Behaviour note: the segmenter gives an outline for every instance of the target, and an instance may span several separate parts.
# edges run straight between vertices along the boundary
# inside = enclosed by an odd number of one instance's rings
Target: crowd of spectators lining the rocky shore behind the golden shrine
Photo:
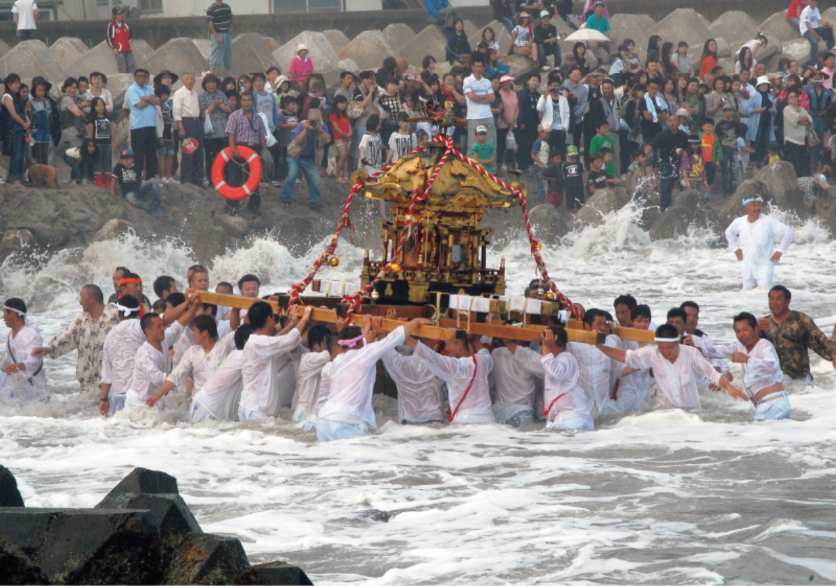
[[[120,71],[135,75],[124,103],[113,103],[99,72],[65,79],[59,92],[48,79],[23,84],[9,74],[0,110],[7,180],[24,181],[30,156],[55,166],[60,155],[74,181],[108,186],[115,176],[131,203],[158,213],[161,186],[210,186],[218,153],[247,146],[261,155],[263,186],[282,186],[281,200],[290,205],[303,175],[317,210],[321,177],[339,183],[357,169],[374,173],[441,132],[488,171],[526,174],[531,196],[568,211],[604,188],[638,199],[659,191],[663,209],[677,188],[729,197],[747,173],[783,159],[823,213],[833,177],[836,55],[818,51],[833,48],[818,0],[792,0],[787,13],[811,42],[808,62],[781,59],[767,69],[758,55],[769,39],[757,33],[727,39],[741,44],[729,71],[719,64],[715,39],[705,39],[692,62],[685,41],[652,36],[641,63],[632,39],[614,37],[603,0],[585,0],[579,16],[566,0],[532,2],[492,3],[511,32],[508,47],[489,27],[471,47],[455,8],[428,2],[446,47],[421,64],[386,56],[376,71],[344,71],[333,92],[303,44],[288,64],[233,77],[234,16],[220,0],[207,9],[210,72],[137,69],[125,9],[115,7],[108,43]],[[564,55],[555,17],[608,40],[574,43]],[[532,69],[512,77],[510,55],[530,59]],[[464,123],[437,125],[445,108]],[[115,168],[113,125],[123,116],[130,118],[130,148],[119,151]],[[225,181],[241,184],[246,167],[230,167]],[[251,198],[252,209],[259,201]]]

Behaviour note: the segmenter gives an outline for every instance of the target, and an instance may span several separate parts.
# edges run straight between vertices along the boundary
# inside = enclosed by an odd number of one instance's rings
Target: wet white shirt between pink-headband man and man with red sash
[[[403,423],[444,421],[444,381],[422,359],[391,349],[381,358],[398,387],[398,420]]]

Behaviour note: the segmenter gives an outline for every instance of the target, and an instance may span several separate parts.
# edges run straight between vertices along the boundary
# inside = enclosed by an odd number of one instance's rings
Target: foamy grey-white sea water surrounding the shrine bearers
[[[625,208],[543,251],[573,301],[611,310],[633,293],[661,323],[692,299],[721,343],[734,339],[733,314],[767,313],[766,291],[740,290],[714,234],[650,242],[637,217]],[[783,219],[796,240],[776,283],[829,334],[836,244],[815,222]],[[247,268],[268,292],[302,278],[317,254],[258,240],[199,260],[211,260],[212,285]],[[341,242],[338,254],[321,278],[355,281],[363,251]],[[508,290],[522,292],[535,276],[528,244],[493,249],[491,264],[501,257]],[[117,264],[150,281],[195,260],[174,242],[126,237],[8,259],[0,293],[26,298],[48,339],[77,313],[81,284],[110,291]],[[92,507],[135,466],[169,472],[206,532],[240,538],[253,563],[296,563],[315,583],[836,583],[836,374],[812,363],[815,382],[790,389],[791,420],[752,422],[751,405],[705,391],[699,412],[612,418],[577,435],[402,426],[381,396],[375,434],[320,445],[287,420],[190,425],[176,396],[168,410],[104,420],[97,397],[77,392],[71,354],[46,364],[48,405],[0,411],[0,463],[30,507]]]

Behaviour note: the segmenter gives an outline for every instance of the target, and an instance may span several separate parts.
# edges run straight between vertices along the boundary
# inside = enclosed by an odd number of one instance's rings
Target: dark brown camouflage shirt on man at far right
[[[778,324],[772,315],[764,316],[764,319],[769,320],[769,329],[761,330],[761,338],[766,338],[775,346],[784,375],[792,379],[810,375],[808,349],[823,359],[833,360],[833,341],[818,329],[813,318],[806,313],[791,311],[782,324]]]

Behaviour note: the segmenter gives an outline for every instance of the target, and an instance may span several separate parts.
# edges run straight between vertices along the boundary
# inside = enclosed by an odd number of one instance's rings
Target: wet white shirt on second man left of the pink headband
[[[301,340],[302,334],[299,334],[298,329],[292,329],[282,336],[250,336],[244,346],[242,410],[254,411],[266,417],[278,417],[282,400],[276,365],[283,361],[284,355],[297,348]]]

